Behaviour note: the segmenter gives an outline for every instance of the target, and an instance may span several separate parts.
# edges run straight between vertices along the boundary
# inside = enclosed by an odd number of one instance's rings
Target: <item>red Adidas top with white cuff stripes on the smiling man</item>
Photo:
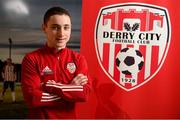
[[[80,73],[88,76],[88,83],[70,85]],[[30,118],[75,118],[76,102],[86,101],[90,89],[85,58],[68,48],[56,52],[46,45],[23,59],[22,90]]]

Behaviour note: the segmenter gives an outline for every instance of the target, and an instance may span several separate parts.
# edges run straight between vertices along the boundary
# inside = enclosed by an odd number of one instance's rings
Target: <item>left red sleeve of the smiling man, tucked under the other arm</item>
[[[42,91],[37,63],[26,56],[22,62],[22,91],[26,103],[30,107],[56,106],[61,98]]]

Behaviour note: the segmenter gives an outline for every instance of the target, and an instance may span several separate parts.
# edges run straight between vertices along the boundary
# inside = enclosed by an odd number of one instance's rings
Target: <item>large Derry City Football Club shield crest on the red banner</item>
[[[150,81],[161,69],[171,42],[166,8],[123,3],[100,9],[95,26],[99,64],[126,91]]]

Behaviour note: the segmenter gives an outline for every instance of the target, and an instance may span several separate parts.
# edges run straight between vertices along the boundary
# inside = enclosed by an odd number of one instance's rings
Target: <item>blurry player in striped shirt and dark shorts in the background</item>
[[[6,60],[6,65],[4,66],[3,72],[2,72],[2,78],[4,79],[4,83],[3,83],[3,91],[1,93],[1,101],[3,101],[3,97],[9,86],[11,88],[12,102],[15,102],[16,97],[15,97],[14,88],[15,88],[15,81],[16,81],[16,71],[15,71],[15,67],[12,63],[11,58],[8,58]]]

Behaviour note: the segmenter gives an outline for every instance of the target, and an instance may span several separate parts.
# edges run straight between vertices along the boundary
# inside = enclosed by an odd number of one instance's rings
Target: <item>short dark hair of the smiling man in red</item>
[[[49,18],[53,15],[67,15],[71,18],[71,15],[68,10],[62,8],[62,7],[51,7],[49,8],[46,13],[44,14],[43,23],[46,25]]]

